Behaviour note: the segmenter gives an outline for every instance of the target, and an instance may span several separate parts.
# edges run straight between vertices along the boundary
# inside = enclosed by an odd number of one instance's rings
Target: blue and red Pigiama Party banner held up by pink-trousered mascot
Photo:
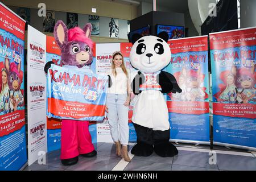
[[[102,121],[107,89],[107,76],[52,64],[47,75],[47,116],[58,119]]]

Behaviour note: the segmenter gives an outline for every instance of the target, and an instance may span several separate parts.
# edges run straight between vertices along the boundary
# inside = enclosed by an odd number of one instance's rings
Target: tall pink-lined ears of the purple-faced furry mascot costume
[[[68,42],[68,31],[70,30],[68,30],[67,26],[62,20],[58,20],[56,22],[53,34],[59,47]],[[85,37],[90,38],[90,33],[92,32],[92,24],[86,23],[82,30],[85,32]]]

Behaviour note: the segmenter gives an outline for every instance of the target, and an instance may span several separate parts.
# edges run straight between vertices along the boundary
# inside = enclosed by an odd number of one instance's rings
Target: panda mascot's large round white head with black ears
[[[134,34],[131,37],[133,43],[130,52],[131,65],[142,72],[162,70],[171,61],[168,38],[167,32],[160,32],[157,36]]]

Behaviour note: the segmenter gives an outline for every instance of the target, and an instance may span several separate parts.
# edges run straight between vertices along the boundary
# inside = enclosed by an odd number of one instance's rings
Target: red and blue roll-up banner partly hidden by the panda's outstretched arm
[[[171,140],[209,144],[208,38],[170,40],[172,57],[166,71],[181,93],[167,94]]]

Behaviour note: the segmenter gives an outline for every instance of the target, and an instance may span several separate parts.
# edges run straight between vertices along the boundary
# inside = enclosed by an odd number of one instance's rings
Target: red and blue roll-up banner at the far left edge
[[[0,2],[0,171],[19,170],[27,163],[25,23]]]

